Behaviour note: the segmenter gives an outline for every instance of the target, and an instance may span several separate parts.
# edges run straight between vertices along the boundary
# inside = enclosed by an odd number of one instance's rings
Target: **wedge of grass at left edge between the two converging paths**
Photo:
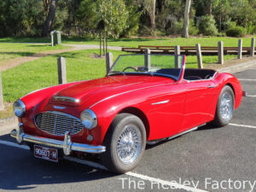
[[[0,43],[0,62],[9,61],[19,56],[33,55],[45,50],[67,49],[65,46],[57,45],[51,47],[47,44],[8,44]]]

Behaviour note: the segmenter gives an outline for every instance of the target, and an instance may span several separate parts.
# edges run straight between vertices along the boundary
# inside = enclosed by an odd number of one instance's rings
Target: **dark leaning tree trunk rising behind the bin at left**
[[[42,32],[43,37],[49,37],[49,29],[50,26],[52,25],[53,20],[55,20],[55,10],[56,6],[59,0],[50,0],[49,3],[49,12],[47,14],[47,18],[44,22],[44,28]]]

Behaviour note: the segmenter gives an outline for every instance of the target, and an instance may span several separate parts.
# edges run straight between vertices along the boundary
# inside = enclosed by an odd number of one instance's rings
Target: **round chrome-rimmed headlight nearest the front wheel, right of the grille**
[[[80,119],[87,130],[95,128],[98,123],[96,114],[90,109],[85,109],[81,113]]]

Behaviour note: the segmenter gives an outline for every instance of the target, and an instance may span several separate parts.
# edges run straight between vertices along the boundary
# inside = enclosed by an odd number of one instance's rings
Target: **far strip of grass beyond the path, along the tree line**
[[[236,47],[239,38],[119,38],[108,39],[109,46],[137,47],[138,45],[181,45],[181,46],[217,46],[218,41],[223,41],[224,46]],[[242,38],[243,46],[249,47],[251,38]],[[50,43],[50,38],[0,38],[0,43]],[[92,38],[62,37],[62,44],[100,44],[99,40]]]

